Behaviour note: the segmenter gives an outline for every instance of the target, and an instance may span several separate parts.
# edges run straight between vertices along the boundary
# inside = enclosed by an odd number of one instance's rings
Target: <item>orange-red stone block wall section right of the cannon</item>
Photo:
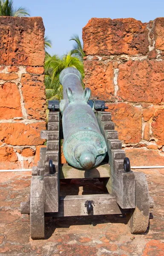
[[[106,100],[131,165],[164,165],[164,18],[92,18],[83,43],[85,86]]]

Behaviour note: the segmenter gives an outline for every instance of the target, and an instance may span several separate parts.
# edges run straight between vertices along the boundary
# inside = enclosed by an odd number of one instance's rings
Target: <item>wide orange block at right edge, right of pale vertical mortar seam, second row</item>
[[[117,95],[129,102],[164,102],[164,61],[120,64]]]

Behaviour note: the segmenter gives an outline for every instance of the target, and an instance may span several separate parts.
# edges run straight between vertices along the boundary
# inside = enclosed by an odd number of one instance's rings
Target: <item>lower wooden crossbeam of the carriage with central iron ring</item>
[[[115,195],[67,195],[60,197],[59,212],[55,216],[88,215],[86,202],[92,202],[92,215],[121,214],[124,211],[118,207]]]

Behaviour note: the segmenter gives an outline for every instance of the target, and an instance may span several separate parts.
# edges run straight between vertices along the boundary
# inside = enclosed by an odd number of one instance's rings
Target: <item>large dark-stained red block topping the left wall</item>
[[[44,65],[44,26],[41,17],[4,16],[0,17],[0,24],[0,64]]]

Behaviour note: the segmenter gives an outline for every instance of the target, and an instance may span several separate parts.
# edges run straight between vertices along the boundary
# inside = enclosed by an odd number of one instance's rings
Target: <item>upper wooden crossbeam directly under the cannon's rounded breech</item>
[[[110,177],[110,166],[108,163],[102,163],[90,170],[74,168],[66,163],[59,166],[59,171],[60,179]]]

